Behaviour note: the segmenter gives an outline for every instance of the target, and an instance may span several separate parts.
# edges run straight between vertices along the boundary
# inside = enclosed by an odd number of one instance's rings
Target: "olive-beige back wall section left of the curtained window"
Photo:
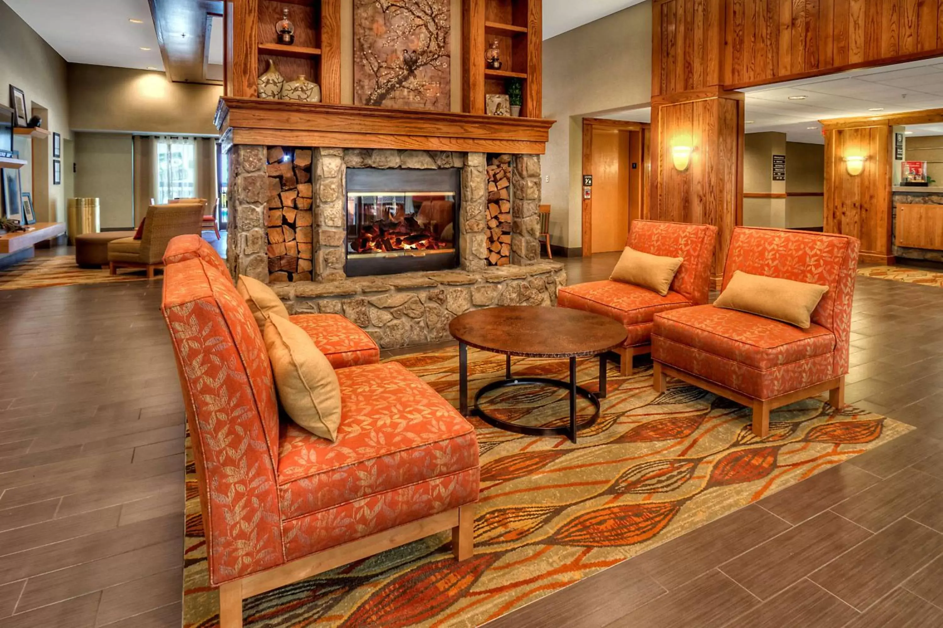
[[[100,199],[102,229],[133,229],[132,140],[126,133],[75,133],[75,195]]]

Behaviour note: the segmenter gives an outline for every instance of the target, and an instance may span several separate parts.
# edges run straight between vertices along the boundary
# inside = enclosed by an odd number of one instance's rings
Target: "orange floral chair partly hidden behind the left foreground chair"
[[[177,236],[171,240],[164,253],[164,265],[194,257],[203,259],[223,276],[231,276],[216,249],[196,235]],[[295,314],[289,320],[307,332],[335,369],[380,361],[380,348],[370,334],[339,314]]]

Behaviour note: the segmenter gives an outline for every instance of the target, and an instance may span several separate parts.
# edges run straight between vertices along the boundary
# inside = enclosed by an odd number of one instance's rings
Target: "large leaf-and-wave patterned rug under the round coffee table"
[[[457,350],[397,359],[457,404]],[[470,390],[504,369],[503,356],[470,350]],[[566,360],[514,361],[519,376],[566,379],[567,369]],[[580,383],[597,389],[597,374],[598,362],[584,361]],[[477,421],[471,559],[455,562],[450,535],[427,537],[246,600],[245,625],[480,625],[913,429],[809,400],[774,411],[760,439],[742,407],[677,381],[659,396],[651,383],[650,367],[619,377],[610,365],[600,419],[575,445]],[[558,425],[569,421],[564,395],[505,388],[488,403],[505,419]],[[184,625],[217,626],[191,462],[185,558]]]

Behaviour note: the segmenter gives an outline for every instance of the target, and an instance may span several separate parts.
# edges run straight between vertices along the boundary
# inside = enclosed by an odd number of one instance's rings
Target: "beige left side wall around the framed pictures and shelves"
[[[0,1],[0,102],[8,103],[9,85],[24,91],[28,107],[45,108],[42,126],[71,138],[67,97],[66,62],[52,46]],[[31,140],[17,140],[21,157]],[[21,172],[24,190],[33,195],[39,221],[65,220],[65,186],[52,179],[52,140],[37,140],[29,150],[31,160]],[[63,162],[63,179],[66,166]],[[70,168],[71,170],[71,168]],[[27,172],[28,171],[28,172]],[[64,182],[64,181],[63,181]]]

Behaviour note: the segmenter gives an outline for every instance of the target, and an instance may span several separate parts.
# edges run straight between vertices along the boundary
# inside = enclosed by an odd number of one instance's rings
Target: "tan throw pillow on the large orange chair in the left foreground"
[[[278,399],[291,421],[315,436],[336,440],[340,385],[331,363],[305,330],[287,319],[270,318],[263,337],[272,361]]]

